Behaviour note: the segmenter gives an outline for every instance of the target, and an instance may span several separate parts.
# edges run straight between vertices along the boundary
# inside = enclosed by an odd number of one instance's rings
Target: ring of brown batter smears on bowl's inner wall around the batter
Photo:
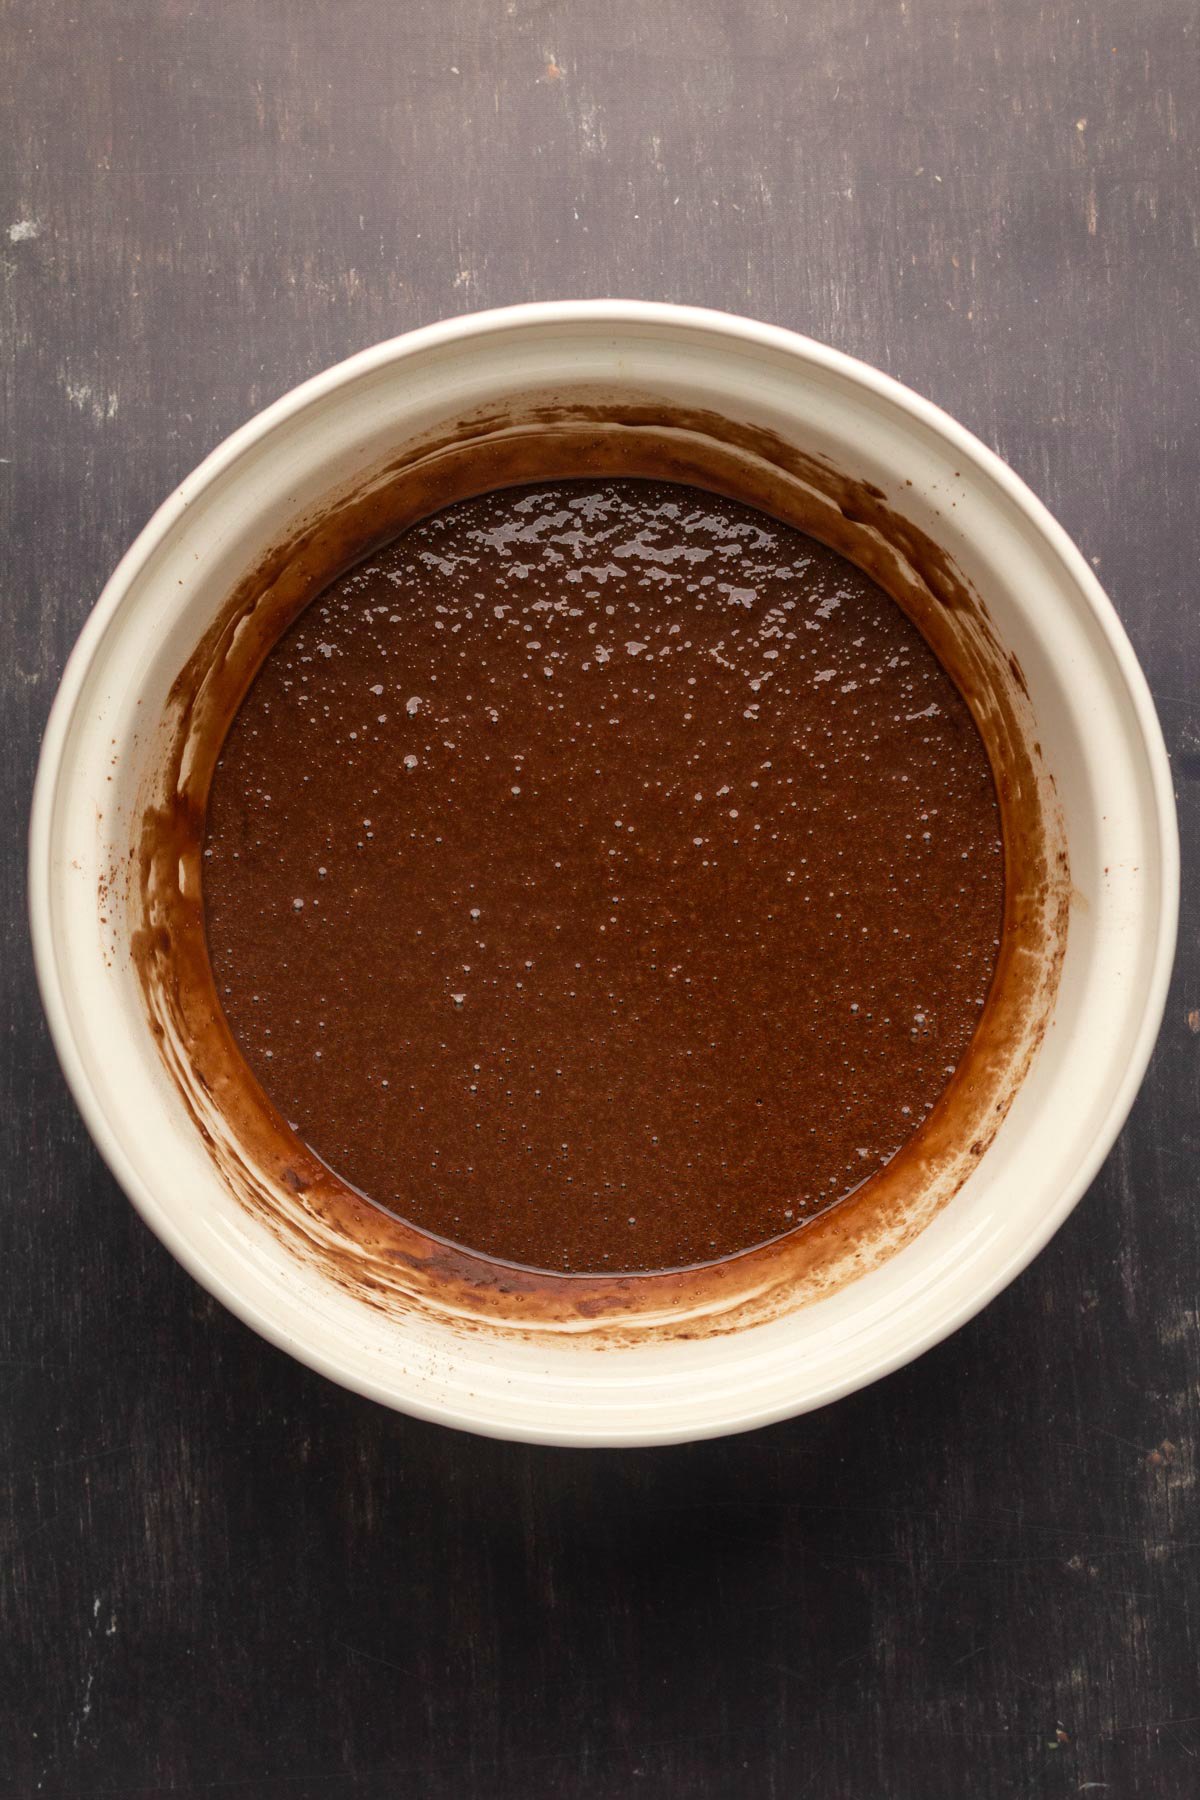
[[[981,1026],[954,1080],[873,1181],[788,1237],[702,1269],[554,1276],[473,1256],[390,1219],[286,1127],[216,997],[200,851],[228,722],[270,646],[317,592],[455,499],[604,475],[682,481],[757,506],[849,556],[900,601],[955,679],[988,747],[1004,826],[1004,931]],[[1031,752],[1027,702],[982,601],[878,490],[712,414],[664,414],[655,403],[599,394],[587,405],[545,396],[520,414],[455,421],[410,446],[369,484],[331,495],[320,517],[297,518],[279,551],[246,576],[180,671],[167,727],[130,895],[135,961],[164,1060],[230,1192],[327,1278],[396,1318],[419,1309],[466,1330],[552,1330],[613,1345],[738,1330],[831,1292],[909,1242],[957,1192],[1052,1012],[1070,889],[1061,821]]]

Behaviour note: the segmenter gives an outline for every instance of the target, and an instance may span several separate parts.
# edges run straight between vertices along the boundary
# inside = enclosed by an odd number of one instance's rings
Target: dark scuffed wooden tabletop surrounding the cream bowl
[[[1200,1793],[1200,61],[1191,0],[7,0],[0,1793]],[[554,1453],[205,1298],[76,1118],[23,824],[151,508],[302,376],[556,295],[797,326],[1099,569],[1186,833],[1159,1051],[1033,1269],[756,1436]]]

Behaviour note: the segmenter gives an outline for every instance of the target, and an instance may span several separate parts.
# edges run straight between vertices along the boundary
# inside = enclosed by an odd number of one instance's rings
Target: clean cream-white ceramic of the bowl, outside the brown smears
[[[720,412],[905,490],[907,517],[986,594],[1020,659],[1072,880],[1052,1028],[986,1156],[912,1242],[766,1323],[599,1350],[563,1334],[389,1318],[291,1255],[221,1181],[101,918],[162,749],[153,725],[171,682],[288,522],[439,421],[597,385]],[[1177,895],[1171,778],[1146,682],[1085,560],[1011,470],[928,401],[820,344],[615,301],[408,333],[306,382],[221,445],[142,531],[79,637],[31,828],[54,1042],[95,1143],[162,1242],[239,1318],[331,1379],[425,1418],[558,1444],[698,1438],[822,1406],[991,1300],[1063,1222],[1124,1121],[1162,1015]]]

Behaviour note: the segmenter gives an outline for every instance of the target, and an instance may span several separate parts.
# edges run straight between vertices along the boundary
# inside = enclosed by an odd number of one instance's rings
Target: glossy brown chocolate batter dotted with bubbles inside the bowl
[[[232,1031],[376,1204],[651,1271],[786,1233],[928,1114],[984,1006],[984,745],[811,538],[646,481],[461,502],[335,581],[225,742]]]

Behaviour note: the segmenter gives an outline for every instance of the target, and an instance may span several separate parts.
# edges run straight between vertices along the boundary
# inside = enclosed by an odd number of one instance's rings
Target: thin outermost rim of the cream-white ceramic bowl
[[[155,1192],[142,1181],[128,1157],[122,1141],[110,1129],[99,1094],[88,1075],[85,1058],[76,1042],[65,999],[65,986],[58,963],[58,950],[50,923],[50,893],[54,887],[52,871],[52,823],[56,815],[59,785],[63,779],[63,756],[76,707],[101,648],[106,630],[117,616],[126,594],[151,562],[158,547],[169,538],[178,522],[189,511],[203,490],[212,486],[221,475],[245,459],[266,437],[286,427],[297,414],[313,407],[327,394],[369,376],[389,364],[399,364],[410,356],[435,351],[455,342],[504,335],[506,331],[543,326],[613,326],[671,328],[676,331],[711,333],[734,344],[745,344],[761,351],[797,356],[815,369],[865,389],[874,398],[907,414],[916,425],[923,425],[952,445],[966,457],[979,473],[991,481],[1007,500],[1018,509],[1034,533],[1049,544],[1065,572],[1074,580],[1081,601],[1099,626],[1106,650],[1112,655],[1121,684],[1133,709],[1137,733],[1146,754],[1146,769],[1153,788],[1153,824],[1159,841],[1159,907],[1153,918],[1155,950],[1151,976],[1144,988],[1142,1010],[1137,1031],[1128,1044],[1124,1073],[1114,1091],[1108,1112],[1094,1134],[1087,1154],[1081,1157],[1074,1179],[1067,1183],[1047,1204],[1036,1228],[1013,1249],[1013,1253],[991,1271],[991,1276],[970,1292],[964,1300],[946,1307],[932,1321],[916,1325],[901,1336],[896,1345],[873,1359],[869,1372],[853,1372],[831,1379],[824,1388],[808,1395],[801,1404],[765,1404],[757,1409],[743,1408],[736,1417],[716,1417],[702,1426],[691,1424],[684,1429],[671,1426],[640,1427],[604,1427],[587,1424],[581,1429],[563,1427],[560,1422],[545,1429],[525,1422],[507,1422],[455,1404],[421,1400],[410,1395],[398,1395],[387,1381],[371,1379],[362,1370],[347,1368],[336,1350],[324,1350],[318,1345],[299,1341],[281,1319],[261,1307],[254,1298],[243,1294],[227,1282],[219,1271],[210,1267],[203,1251],[198,1249],[184,1229],[169,1217]],[[774,1424],[781,1418],[811,1411],[831,1400],[856,1391],[873,1381],[914,1361],[925,1350],[948,1337],[961,1325],[981,1312],[1009,1282],[1016,1278],[1045,1247],[1067,1215],[1079,1202],[1087,1188],[1096,1179],[1101,1163],[1108,1156],[1115,1138],[1124,1125],[1133,1105],[1142,1076],[1159,1035],[1166,1008],[1168,985],[1175,959],[1175,940],[1178,929],[1178,824],[1175,812],[1175,794],[1171,767],[1162,738],[1162,727],[1150,695],[1150,686],[1133,653],[1124,626],[1099,585],[1087,560],[1069,538],[1065,529],[1051,515],[1042,500],[1025,482],[973,432],[959,425],[948,412],[934,401],[925,400],[901,382],[871,364],[865,364],[844,351],[833,349],[815,338],[790,331],[783,326],[763,324],[736,313],[712,308],[667,304],[658,301],[624,299],[588,299],[588,301],[538,301],[516,306],[495,308],[489,311],[464,313],[443,319],[435,324],[419,326],[398,337],[385,338],[362,349],[342,362],[309,376],[297,387],[284,392],[245,425],[225,437],[203,461],[184,477],[175,491],[157,508],[148,524],[124,553],[112,576],[104,583],[83,630],[67,659],[59,679],[58,693],[45,724],[38,772],[32,790],[32,810],[29,824],[29,922],[34,952],[38,988],[45,1008],[47,1022],[58,1060],[67,1085],[72,1093],[83,1121],[97,1145],[104,1163],[117,1179],[122,1192],[137,1208],[140,1217],[171,1251],[171,1255],[200,1282],[216,1300],[236,1318],[248,1325],[261,1337],[286,1350],[297,1361],[367,1399],[380,1400],[412,1417],[470,1429],[486,1436],[516,1438],[538,1444],[574,1444],[574,1445],[631,1445],[631,1444],[671,1444],[696,1440],[703,1436],[752,1431],[759,1426]]]

